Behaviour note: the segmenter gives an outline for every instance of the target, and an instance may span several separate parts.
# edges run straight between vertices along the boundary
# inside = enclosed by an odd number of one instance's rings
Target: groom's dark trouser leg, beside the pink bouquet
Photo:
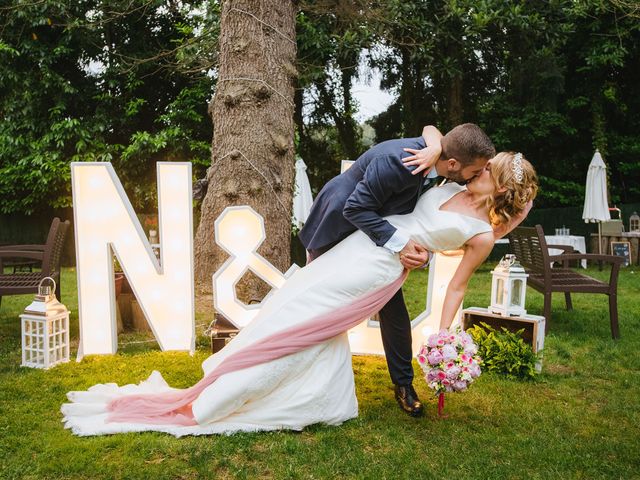
[[[380,330],[391,381],[409,385],[413,382],[411,320],[402,289],[380,310]]]

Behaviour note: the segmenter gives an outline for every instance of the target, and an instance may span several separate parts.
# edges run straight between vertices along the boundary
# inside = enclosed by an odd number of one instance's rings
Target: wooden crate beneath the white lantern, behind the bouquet
[[[531,345],[533,353],[541,352],[544,349],[544,327],[545,318],[539,315],[524,315],[522,317],[503,317],[495,313],[489,312],[488,309],[482,307],[469,307],[462,311],[462,329],[466,330],[479,323],[486,323],[490,327],[500,330],[501,327],[511,332],[522,332],[523,340]],[[536,364],[536,370],[542,370],[542,357],[540,362]]]

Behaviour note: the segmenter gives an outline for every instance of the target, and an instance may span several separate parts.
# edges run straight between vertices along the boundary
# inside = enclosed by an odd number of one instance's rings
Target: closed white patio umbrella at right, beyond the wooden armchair
[[[587,172],[582,218],[587,223],[598,222],[598,253],[602,253],[601,222],[611,220],[611,215],[607,196],[607,166],[598,150],[594,153]]]

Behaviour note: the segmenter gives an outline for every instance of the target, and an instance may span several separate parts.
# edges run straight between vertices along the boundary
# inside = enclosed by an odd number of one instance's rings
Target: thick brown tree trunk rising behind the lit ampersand
[[[211,277],[228,258],[215,243],[214,222],[231,205],[249,205],[264,218],[259,253],[281,271],[290,264],[294,184],[296,34],[291,0],[225,0],[219,72],[210,104],[212,167],[195,240],[195,279],[211,292]],[[268,288],[247,274],[245,302]]]

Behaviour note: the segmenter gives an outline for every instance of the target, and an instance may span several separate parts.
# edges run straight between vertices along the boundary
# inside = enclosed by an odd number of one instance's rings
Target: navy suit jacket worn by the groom
[[[363,153],[346,172],[329,181],[316,197],[300,231],[307,250],[336,244],[357,229],[383,246],[396,228],[382,217],[413,211],[424,182],[411,175],[403,148],[422,149],[422,137],[379,143]]]

